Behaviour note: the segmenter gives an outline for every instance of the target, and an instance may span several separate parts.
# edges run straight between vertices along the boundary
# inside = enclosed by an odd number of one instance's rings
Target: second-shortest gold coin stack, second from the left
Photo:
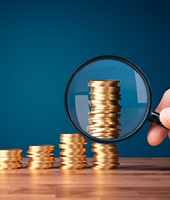
[[[30,146],[27,155],[30,158],[28,163],[29,169],[50,169],[53,166],[54,153],[53,145],[40,145],[40,146]]]

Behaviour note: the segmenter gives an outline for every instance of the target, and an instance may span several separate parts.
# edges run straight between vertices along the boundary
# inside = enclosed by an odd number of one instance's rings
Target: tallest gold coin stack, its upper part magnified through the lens
[[[103,139],[119,136],[121,106],[118,103],[120,100],[118,83],[118,80],[93,80],[88,83],[92,99],[89,101],[92,107],[88,119],[90,126],[87,127],[90,135]],[[95,153],[93,169],[113,169],[119,165],[119,153],[115,144],[92,143],[92,147]]]

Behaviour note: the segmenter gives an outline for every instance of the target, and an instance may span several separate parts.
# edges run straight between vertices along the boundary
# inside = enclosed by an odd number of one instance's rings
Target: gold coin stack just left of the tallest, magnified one
[[[84,137],[75,134],[61,134],[59,144],[61,148],[60,157],[61,166],[60,169],[82,169],[87,165],[84,153],[86,148],[84,148],[85,142]]]

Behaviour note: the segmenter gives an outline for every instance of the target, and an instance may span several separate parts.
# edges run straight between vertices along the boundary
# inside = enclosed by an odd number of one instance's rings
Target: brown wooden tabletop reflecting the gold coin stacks
[[[120,158],[113,170],[0,170],[0,200],[170,199],[170,158]]]

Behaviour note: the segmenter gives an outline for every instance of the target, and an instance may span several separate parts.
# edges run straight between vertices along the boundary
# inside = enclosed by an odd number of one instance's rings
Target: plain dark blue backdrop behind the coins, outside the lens
[[[0,1],[0,148],[54,144],[74,133],[63,107],[65,83],[99,55],[131,60],[148,77],[156,108],[170,85],[170,3],[136,0]],[[169,139],[147,143],[149,123],[119,143],[120,157],[169,157]],[[91,157],[91,146],[87,145]]]

